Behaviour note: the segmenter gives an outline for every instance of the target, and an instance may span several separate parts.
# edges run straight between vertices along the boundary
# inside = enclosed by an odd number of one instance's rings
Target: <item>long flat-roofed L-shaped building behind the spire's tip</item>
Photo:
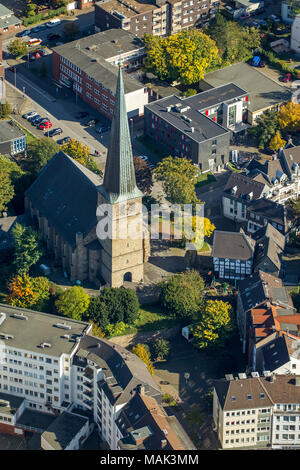
[[[132,33],[112,29],[55,47],[52,76],[111,120],[116,99],[117,65],[122,64],[128,71],[134,70],[140,66],[144,53],[142,41]],[[144,114],[144,105],[148,103],[147,88],[127,73],[123,80],[128,117],[137,119]]]

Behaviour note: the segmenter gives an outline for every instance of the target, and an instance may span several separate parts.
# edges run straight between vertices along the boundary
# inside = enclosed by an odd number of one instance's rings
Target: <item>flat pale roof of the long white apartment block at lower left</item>
[[[61,354],[71,354],[78,344],[76,338],[86,333],[88,323],[67,317],[34,312],[19,307],[0,303],[0,315],[6,315],[0,324],[0,340],[7,347],[25,349],[37,354],[59,357]],[[23,319],[20,317],[23,314]],[[15,316],[17,315],[17,316]],[[58,324],[65,323],[70,329],[61,328]],[[3,335],[10,335],[5,339]],[[68,335],[69,338],[64,337]],[[41,345],[46,343],[46,346]],[[48,347],[47,344],[51,346]]]

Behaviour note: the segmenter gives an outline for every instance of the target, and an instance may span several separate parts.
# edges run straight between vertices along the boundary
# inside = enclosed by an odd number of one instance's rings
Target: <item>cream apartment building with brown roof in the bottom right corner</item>
[[[228,374],[214,386],[213,419],[223,449],[300,447],[300,376]]]

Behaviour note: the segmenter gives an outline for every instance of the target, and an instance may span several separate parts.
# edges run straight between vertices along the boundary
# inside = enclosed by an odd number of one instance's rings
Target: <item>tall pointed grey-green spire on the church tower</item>
[[[142,197],[143,195],[136,186],[124,83],[120,66],[102,189],[106,200],[111,204]]]

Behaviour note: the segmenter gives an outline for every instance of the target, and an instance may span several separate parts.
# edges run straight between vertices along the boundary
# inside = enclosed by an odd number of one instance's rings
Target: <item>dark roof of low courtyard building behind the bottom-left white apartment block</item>
[[[42,439],[49,442],[56,450],[63,450],[86,425],[87,421],[86,417],[64,411],[43,432]]]

